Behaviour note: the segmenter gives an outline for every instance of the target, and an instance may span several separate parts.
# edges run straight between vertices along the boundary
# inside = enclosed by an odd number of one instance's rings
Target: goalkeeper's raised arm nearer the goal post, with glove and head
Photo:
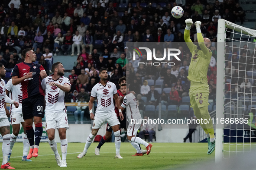
[[[208,49],[208,47],[211,46],[211,41],[208,38],[203,38],[203,35],[201,33],[201,22],[197,21],[194,23],[196,29],[197,29],[197,36],[198,36],[198,44],[203,51],[203,53],[206,55],[207,53],[211,53],[211,50]],[[206,43],[208,42],[208,43]]]

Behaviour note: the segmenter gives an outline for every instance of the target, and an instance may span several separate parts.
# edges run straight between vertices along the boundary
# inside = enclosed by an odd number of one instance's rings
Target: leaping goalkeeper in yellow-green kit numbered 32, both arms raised
[[[207,154],[211,154],[215,149],[213,123],[208,112],[209,85],[207,83],[207,71],[212,56],[212,52],[209,49],[211,40],[209,40],[209,38],[203,38],[200,29],[201,22],[197,21],[194,25],[197,30],[199,45],[194,45],[189,34],[193,21],[192,19],[186,19],[185,22],[187,26],[184,32],[184,40],[192,54],[191,63],[188,69],[188,79],[191,82],[189,89],[190,107],[193,108],[194,115],[200,120],[200,125],[207,135]],[[203,121],[201,122],[201,120]]]

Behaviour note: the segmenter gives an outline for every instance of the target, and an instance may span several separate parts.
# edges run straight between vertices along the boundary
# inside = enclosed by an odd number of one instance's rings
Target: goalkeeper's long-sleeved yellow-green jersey
[[[197,33],[197,36],[198,44],[201,50],[198,50],[197,46],[193,44],[190,39],[189,31],[185,29],[184,40],[192,54],[188,69],[188,79],[191,82],[201,82],[203,84],[207,84],[207,71],[211,62],[212,52],[205,46],[202,34]]]

